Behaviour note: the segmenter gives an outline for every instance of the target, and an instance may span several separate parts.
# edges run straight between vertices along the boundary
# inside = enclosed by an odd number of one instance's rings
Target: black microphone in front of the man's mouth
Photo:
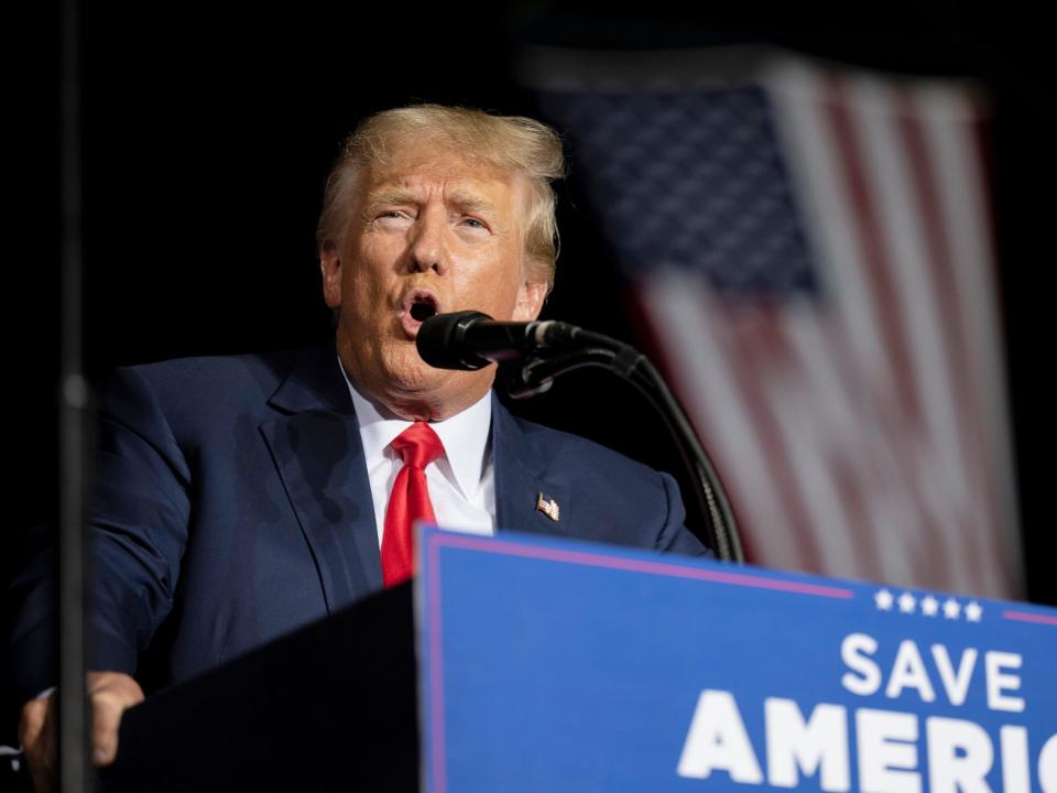
[[[495,322],[488,314],[465,311],[437,314],[418,327],[418,355],[438,369],[472,371],[493,361],[520,358],[573,340],[580,328],[559,322]]]

